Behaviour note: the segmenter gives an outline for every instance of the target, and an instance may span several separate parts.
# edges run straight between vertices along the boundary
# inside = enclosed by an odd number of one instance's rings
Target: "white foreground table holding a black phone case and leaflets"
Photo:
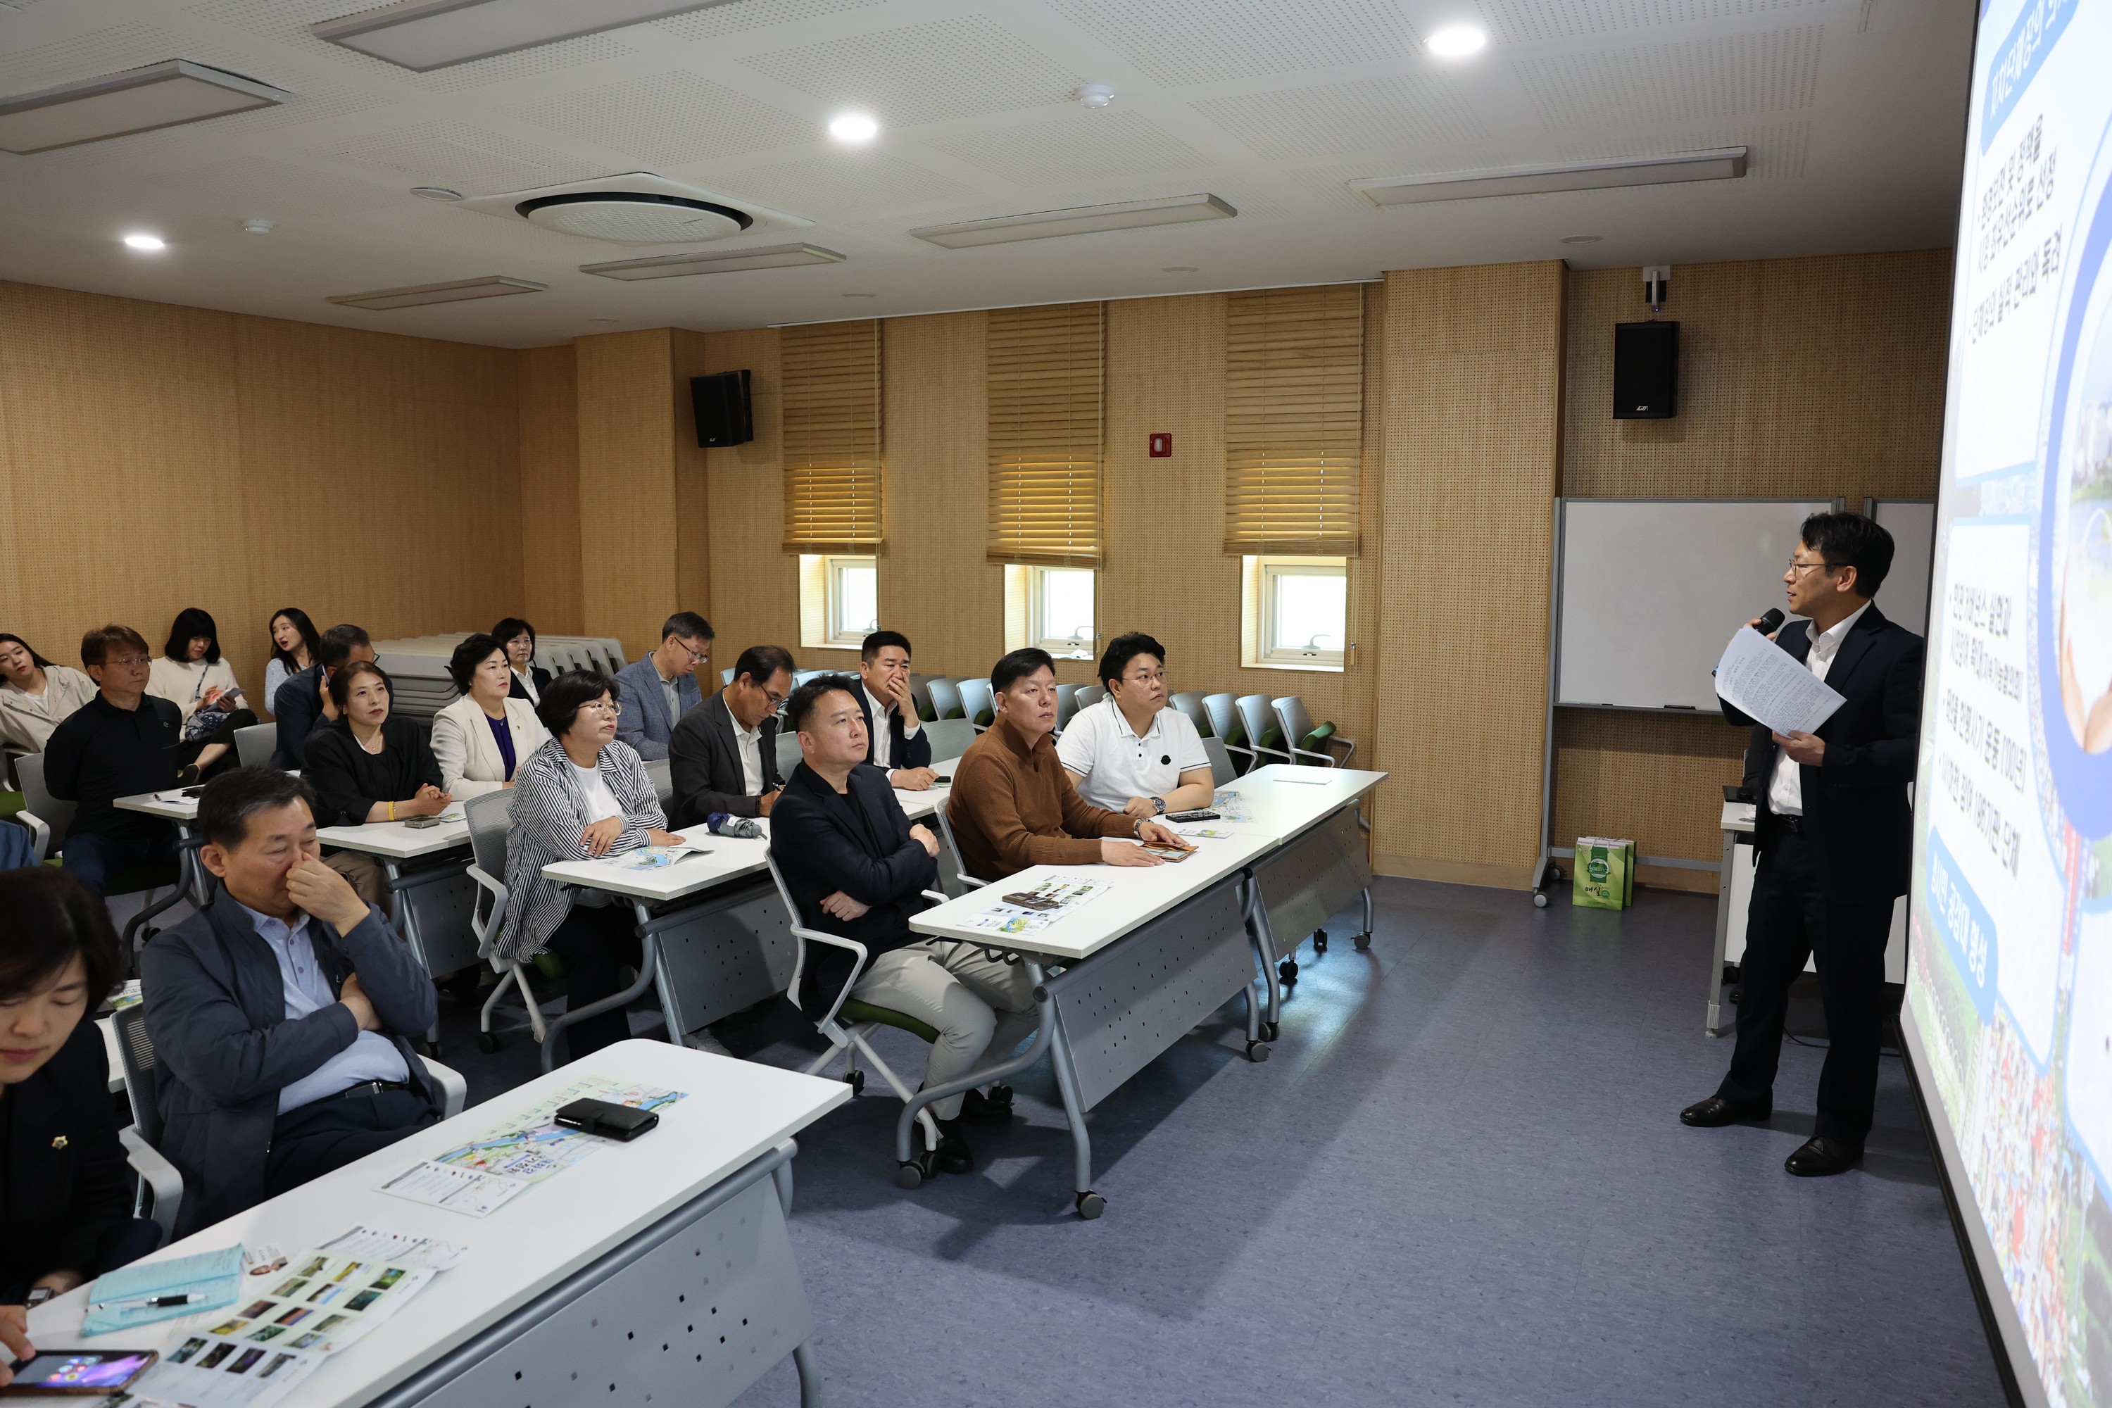
[[[488,1218],[380,1191],[420,1159],[484,1134],[583,1074],[663,1085],[686,1100],[659,1127],[530,1186]],[[150,1260],[232,1243],[287,1254],[355,1224],[439,1237],[469,1254],[401,1313],[332,1355],[300,1408],[490,1408],[659,1400],[731,1404],[786,1355],[800,1404],[819,1402],[813,1311],[792,1260],[792,1136],[851,1098],[822,1081],[657,1041],[604,1047],[498,1100],[418,1129]],[[30,1311],[40,1349],[80,1338],[89,1288]],[[226,1309],[127,1330],[118,1349],[169,1349]]]

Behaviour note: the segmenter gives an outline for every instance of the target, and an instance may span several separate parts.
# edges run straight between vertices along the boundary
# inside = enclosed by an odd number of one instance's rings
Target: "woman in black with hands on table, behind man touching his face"
[[[454,800],[439,789],[431,732],[412,718],[389,713],[389,676],[374,661],[351,661],[329,678],[338,718],[308,735],[302,777],[315,787],[317,825],[365,825],[437,817]],[[389,906],[382,868],[372,855],[336,851],[323,863],[342,874],[367,903]]]

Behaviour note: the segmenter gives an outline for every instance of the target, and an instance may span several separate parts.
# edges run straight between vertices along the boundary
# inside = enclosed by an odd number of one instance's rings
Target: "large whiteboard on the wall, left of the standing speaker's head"
[[[1827,498],[1559,498],[1554,703],[1717,711],[1723,642],[1783,606]]]

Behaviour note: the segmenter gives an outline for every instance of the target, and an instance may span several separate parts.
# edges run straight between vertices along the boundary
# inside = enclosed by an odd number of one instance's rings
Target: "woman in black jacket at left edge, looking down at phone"
[[[0,1345],[27,1359],[27,1305],[146,1256],[161,1229],[131,1216],[91,1020],[118,975],[110,912],[40,865],[0,872]]]

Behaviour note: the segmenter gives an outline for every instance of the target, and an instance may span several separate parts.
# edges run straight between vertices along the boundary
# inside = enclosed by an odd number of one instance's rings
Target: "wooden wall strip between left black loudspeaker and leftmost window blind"
[[[708,450],[708,553],[712,680],[748,646],[798,650],[798,557],[781,551],[784,454],[779,450],[777,334],[769,327],[705,338],[703,372],[750,372],[756,437]],[[695,443],[695,437],[691,439]],[[800,661],[800,669],[807,669]]]

